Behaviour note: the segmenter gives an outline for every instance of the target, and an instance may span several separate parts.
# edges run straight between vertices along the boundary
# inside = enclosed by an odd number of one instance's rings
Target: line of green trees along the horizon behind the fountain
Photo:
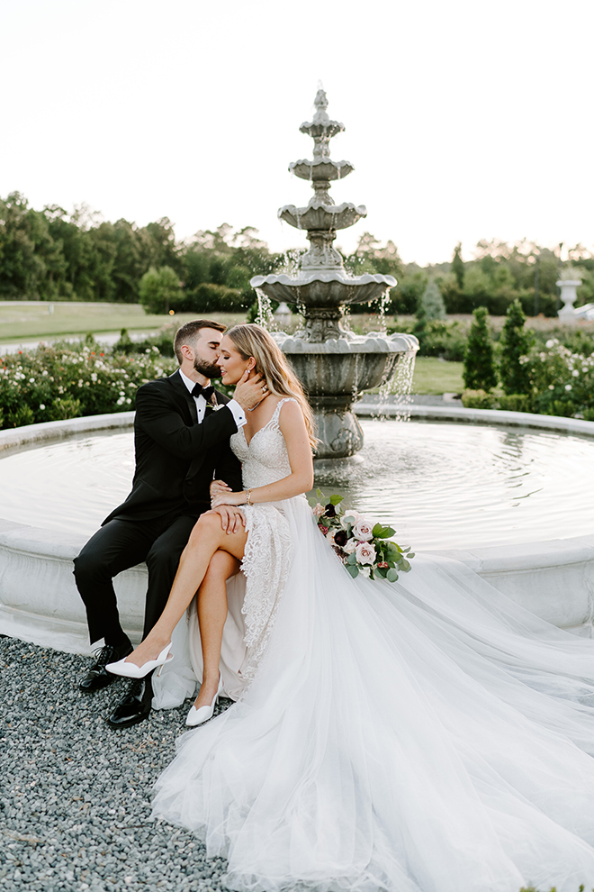
[[[0,199],[4,300],[140,301],[154,313],[237,312],[254,304],[252,276],[294,269],[302,250],[274,253],[250,226],[235,231],[223,223],[178,241],[167,217],[146,226],[110,223],[85,205],[68,214],[58,205],[37,211],[18,192]],[[577,245],[569,258],[582,280],[578,304],[594,300],[594,255]],[[451,260],[419,267],[403,263],[392,241],[383,244],[364,232],[345,265],[356,275],[398,279],[385,305],[389,314],[417,313],[429,286],[437,287],[448,314],[486,306],[503,315],[515,300],[528,315],[558,309],[560,260],[554,250],[526,240],[480,241],[466,261],[457,245]]]

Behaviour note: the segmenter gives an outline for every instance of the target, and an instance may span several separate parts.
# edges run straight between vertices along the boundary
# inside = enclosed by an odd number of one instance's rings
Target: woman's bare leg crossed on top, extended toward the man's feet
[[[145,640],[126,658],[126,662],[141,666],[147,660],[155,660],[171,641],[171,634],[201,586],[215,551],[228,551],[234,558],[241,559],[246,542],[247,532],[243,527],[239,528],[239,532],[225,532],[219,514],[214,511],[201,514],[182,552],[163,613]]]

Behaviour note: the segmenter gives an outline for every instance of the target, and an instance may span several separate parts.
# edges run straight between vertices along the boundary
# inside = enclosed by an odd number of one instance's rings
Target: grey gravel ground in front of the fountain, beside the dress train
[[[190,702],[114,731],[105,716],[128,683],[83,694],[88,665],[0,637],[0,890],[222,889],[223,860],[150,820],[151,787]]]

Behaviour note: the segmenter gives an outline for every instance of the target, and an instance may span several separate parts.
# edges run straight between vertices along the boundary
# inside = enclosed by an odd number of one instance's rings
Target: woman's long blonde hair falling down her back
[[[276,341],[266,332],[266,328],[254,323],[234,325],[225,332],[225,337],[233,341],[242,360],[254,357],[256,370],[266,378],[266,385],[271,394],[293,396],[297,400],[302,408],[311,448],[314,449],[318,441],[313,426],[311,405],[307,401],[299,378],[285,360],[284,353]]]

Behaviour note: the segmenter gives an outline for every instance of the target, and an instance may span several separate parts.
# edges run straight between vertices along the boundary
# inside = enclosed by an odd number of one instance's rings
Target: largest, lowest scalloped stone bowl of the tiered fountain
[[[290,361],[314,407],[340,410],[357,394],[379,387],[392,378],[402,357],[419,348],[416,338],[332,339],[323,343],[302,341],[281,334],[275,340]]]

